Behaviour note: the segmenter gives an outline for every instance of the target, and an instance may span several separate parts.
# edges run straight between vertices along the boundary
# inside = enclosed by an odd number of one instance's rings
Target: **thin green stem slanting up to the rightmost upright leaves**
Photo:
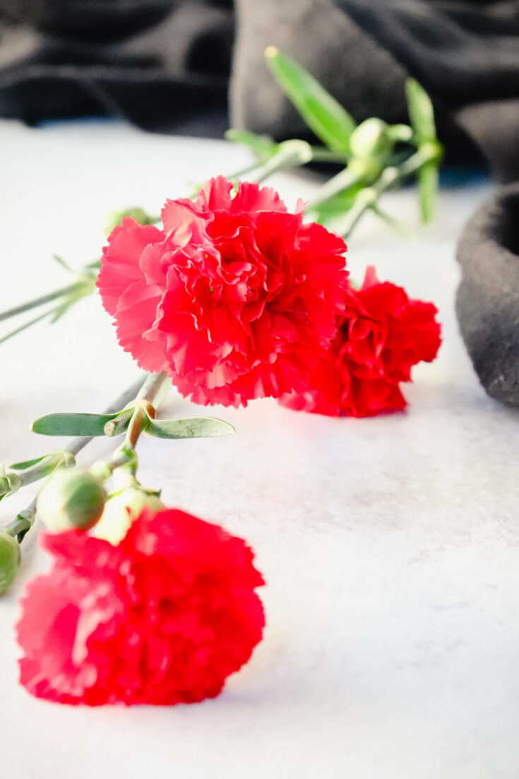
[[[424,165],[429,164],[433,160],[437,160],[440,156],[438,148],[434,144],[430,144],[429,147],[422,146],[417,152],[408,157],[403,163],[398,166],[387,167],[380,177],[372,184],[372,186],[366,187],[358,192],[355,196],[355,201],[351,209],[346,213],[342,220],[339,220],[334,225],[334,230],[343,238],[348,238],[351,231],[357,224],[358,220],[362,217],[365,211],[376,206],[380,196],[387,189],[391,189],[402,179],[407,178],[409,175],[416,173]]]

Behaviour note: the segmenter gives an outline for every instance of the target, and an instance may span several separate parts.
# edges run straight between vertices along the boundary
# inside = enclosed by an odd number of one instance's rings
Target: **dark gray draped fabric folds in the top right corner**
[[[337,0],[478,144],[493,174],[519,178],[517,0]]]

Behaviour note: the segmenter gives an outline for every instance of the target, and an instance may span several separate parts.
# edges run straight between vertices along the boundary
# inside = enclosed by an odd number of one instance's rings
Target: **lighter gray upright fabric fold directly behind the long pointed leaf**
[[[264,56],[269,45],[301,62],[358,121],[405,117],[408,72],[331,0],[237,0],[236,8],[234,126],[267,133],[275,128],[281,136],[304,132],[270,76]]]

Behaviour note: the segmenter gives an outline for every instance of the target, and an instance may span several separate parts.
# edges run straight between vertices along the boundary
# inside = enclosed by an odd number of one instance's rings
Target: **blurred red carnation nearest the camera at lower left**
[[[249,660],[264,616],[252,552],[221,527],[147,509],[117,546],[43,534],[51,571],[26,587],[20,681],[60,703],[195,703]]]

